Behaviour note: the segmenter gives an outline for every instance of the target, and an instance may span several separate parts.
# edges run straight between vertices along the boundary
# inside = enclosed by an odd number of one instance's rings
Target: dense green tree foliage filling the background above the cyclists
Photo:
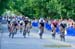
[[[30,18],[75,18],[75,0],[1,0],[0,7],[0,14],[7,9]]]

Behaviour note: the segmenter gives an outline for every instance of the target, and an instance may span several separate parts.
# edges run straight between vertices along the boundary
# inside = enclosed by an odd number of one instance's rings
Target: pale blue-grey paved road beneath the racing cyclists
[[[13,39],[9,38],[6,25],[3,25],[3,32],[3,34],[0,33],[0,49],[75,49],[75,37],[66,36],[66,41],[61,42],[59,35],[56,35],[56,39],[53,40],[47,30],[45,30],[43,39],[39,39],[38,28],[34,27],[27,38],[23,38],[19,31]]]

